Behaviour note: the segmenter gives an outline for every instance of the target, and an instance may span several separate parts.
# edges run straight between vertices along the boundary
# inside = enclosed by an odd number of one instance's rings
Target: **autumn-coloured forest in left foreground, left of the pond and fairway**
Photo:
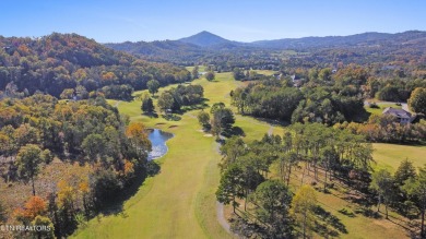
[[[79,220],[95,216],[147,174],[151,142],[145,128],[129,124],[103,97],[60,103],[35,94],[2,99],[0,128],[2,180],[12,190],[22,182],[31,186],[31,191],[21,192],[25,196],[5,198],[4,222],[54,228],[38,237],[70,235]],[[63,164],[66,171],[57,176],[55,167]],[[55,168],[48,176],[52,178],[38,180],[48,167]]]

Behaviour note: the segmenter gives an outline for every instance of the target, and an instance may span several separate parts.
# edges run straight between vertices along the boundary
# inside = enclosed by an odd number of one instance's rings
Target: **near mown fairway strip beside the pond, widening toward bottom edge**
[[[155,124],[154,124],[155,126]],[[153,127],[154,127],[153,126]],[[214,141],[199,132],[197,119],[182,117],[178,128],[155,126],[175,133],[169,152],[159,160],[161,174],[146,180],[125,204],[122,214],[92,219],[76,238],[226,238],[216,220],[214,189],[220,155]],[[201,198],[201,199],[200,199]],[[206,207],[206,208],[204,208]],[[211,211],[212,210],[212,211]],[[200,223],[202,222],[202,223]]]

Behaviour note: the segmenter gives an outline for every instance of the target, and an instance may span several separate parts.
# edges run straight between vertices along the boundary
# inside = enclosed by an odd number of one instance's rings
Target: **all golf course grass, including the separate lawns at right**
[[[213,82],[201,77],[191,84],[200,84],[204,87],[204,97],[208,99],[205,103],[209,106],[218,101],[229,106],[229,92],[242,86],[244,83],[234,81],[232,73],[217,73]],[[174,85],[161,88],[157,94],[169,87]],[[142,93],[137,92],[134,95]],[[176,120],[166,120],[158,109],[156,110],[158,118],[143,116],[140,100],[109,100],[109,103],[121,113],[128,115],[130,120],[141,121],[147,128],[161,129],[174,133],[175,136],[167,141],[167,154],[156,159],[161,165],[161,172],[147,178],[140,186],[138,192],[123,203],[122,212],[91,219],[73,237],[232,238],[233,236],[218,222],[214,194],[220,180],[218,145],[213,136],[201,131],[197,120],[198,110],[177,115]],[[155,100],[154,105],[156,105]],[[247,142],[261,139],[264,133],[283,135],[285,130],[283,127],[271,126],[240,115],[236,115],[236,126],[242,129]],[[416,166],[423,165],[421,160],[424,160],[423,155],[426,154],[425,146],[398,145],[397,148],[393,145],[375,144],[375,147],[377,167],[393,170],[407,154]],[[392,147],[398,152],[404,152],[404,158],[400,157],[402,154],[389,153]],[[338,196],[319,194],[318,200],[346,225],[348,234],[342,234],[342,238],[407,237],[398,225],[389,220],[375,220],[362,216],[347,217],[339,214],[339,210],[350,205]]]

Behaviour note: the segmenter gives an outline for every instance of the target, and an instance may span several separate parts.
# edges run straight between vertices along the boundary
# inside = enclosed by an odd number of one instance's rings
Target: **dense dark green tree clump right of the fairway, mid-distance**
[[[289,79],[270,77],[230,93],[238,111],[287,122],[336,122],[359,120],[364,100],[356,87],[332,85],[294,87]]]

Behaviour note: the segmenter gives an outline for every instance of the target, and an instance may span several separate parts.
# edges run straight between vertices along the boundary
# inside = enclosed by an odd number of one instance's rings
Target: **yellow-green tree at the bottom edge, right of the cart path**
[[[313,228],[315,214],[313,210],[317,203],[315,190],[310,186],[303,186],[294,195],[292,201],[291,213],[296,223],[303,229],[303,237],[309,238]]]

